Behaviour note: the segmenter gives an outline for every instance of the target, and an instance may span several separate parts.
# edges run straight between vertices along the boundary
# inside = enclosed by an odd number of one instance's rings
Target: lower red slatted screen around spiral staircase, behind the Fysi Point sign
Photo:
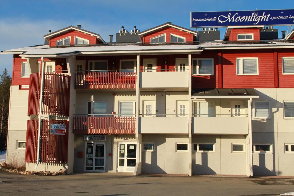
[[[39,120],[28,120],[26,130],[26,163],[36,163],[38,149]],[[65,124],[65,135],[51,135],[50,124]],[[40,138],[40,163],[67,163],[68,121],[42,120]]]

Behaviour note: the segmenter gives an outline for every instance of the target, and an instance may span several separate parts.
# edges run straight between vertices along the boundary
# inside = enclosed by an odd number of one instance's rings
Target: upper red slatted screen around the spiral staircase
[[[28,115],[39,114],[41,74],[30,75]],[[70,76],[62,73],[45,73],[42,114],[69,115]]]

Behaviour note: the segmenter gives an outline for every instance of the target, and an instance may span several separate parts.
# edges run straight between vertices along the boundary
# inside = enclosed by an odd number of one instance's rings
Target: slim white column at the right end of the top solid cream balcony
[[[189,151],[189,176],[192,176],[192,85],[191,85],[191,66],[192,66],[192,58],[191,54],[188,54],[188,137],[189,137],[189,145],[188,145],[188,151]]]

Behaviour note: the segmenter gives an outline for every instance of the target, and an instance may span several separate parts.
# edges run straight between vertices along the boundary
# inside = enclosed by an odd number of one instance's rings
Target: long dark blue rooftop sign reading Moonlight
[[[294,25],[294,9],[191,12],[191,28]]]

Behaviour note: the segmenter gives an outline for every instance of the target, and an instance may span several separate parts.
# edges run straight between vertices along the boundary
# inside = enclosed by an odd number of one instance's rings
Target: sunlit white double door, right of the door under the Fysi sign
[[[118,172],[134,172],[137,160],[137,144],[135,142],[118,143]]]

